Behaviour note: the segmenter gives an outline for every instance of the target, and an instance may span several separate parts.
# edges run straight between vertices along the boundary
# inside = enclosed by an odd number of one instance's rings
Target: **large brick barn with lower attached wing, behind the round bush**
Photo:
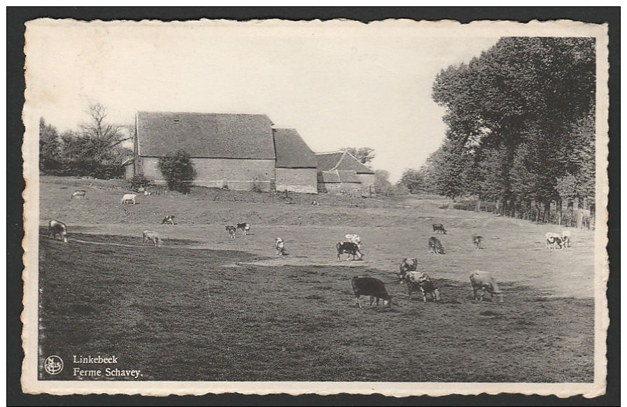
[[[230,190],[317,191],[315,157],[295,130],[273,129],[266,115],[138,112],[133,165],[165,183],[160,157],[186,151],[196,171],[194,185]]]

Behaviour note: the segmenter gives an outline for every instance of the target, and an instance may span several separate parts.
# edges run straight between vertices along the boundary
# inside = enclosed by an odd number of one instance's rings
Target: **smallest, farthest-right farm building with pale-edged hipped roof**
[[[316,153],[318,192],[370,193],[375,172],[350,152]]]

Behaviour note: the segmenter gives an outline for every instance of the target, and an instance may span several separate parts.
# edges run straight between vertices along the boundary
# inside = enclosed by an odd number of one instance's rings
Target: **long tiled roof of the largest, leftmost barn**
[[[266,115],[138,112],[139,154],[275,159],[272,124]]]

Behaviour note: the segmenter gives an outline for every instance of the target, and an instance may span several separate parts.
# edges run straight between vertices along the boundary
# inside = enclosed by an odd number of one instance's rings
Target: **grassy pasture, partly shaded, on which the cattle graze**
[[[88,199],[69,199],[75,188]],[[438,198],[321,195],[310,206],[306,196],[198,190],[123,206],[124,192],[41,178],[41,225],[62,220],[70,234],[40,240],[44,358],[116,355],[115,367],[141,369],[140,380],[593,380],[589,231],[574,231],[570,249],[546,250],[556,227],[443,210]],[[179,224],[160,225],[166,214]],[[224,225],[243,221],[252,234],[228,238]],[[434,222],[448,230],[446,255],[429,254]],[[163,245],[142,245],[144,229]],[[361,236],[362,261],[337,261],[346,233]],[[289,255],[274,255],[278,236]],[[408,299],[394,275],[404,257],[436,280],[441,303]],[[503,304],[471,299],[475,269],[492,272]],[[394,306],[355,308],[357,275],[383,280]]]

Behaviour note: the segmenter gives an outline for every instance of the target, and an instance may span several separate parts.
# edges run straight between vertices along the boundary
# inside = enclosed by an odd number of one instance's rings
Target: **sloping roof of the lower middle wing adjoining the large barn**
[[[316,168],[316,156],[295,129],[275,129],[277,168]]]

